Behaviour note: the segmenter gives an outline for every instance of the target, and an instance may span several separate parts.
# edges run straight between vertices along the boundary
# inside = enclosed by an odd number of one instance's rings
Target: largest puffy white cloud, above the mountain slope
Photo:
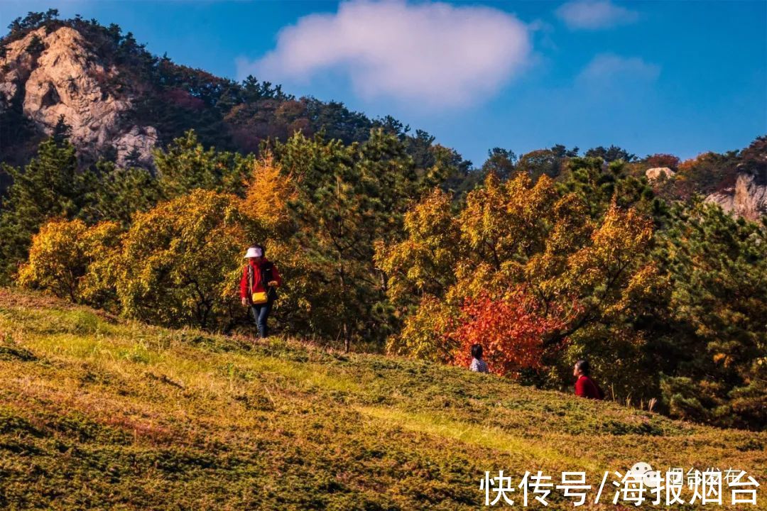
[[[355,0],[283,28],[274,50],[237,70],[272,82],[341,70],[366,99],[459,106],[499,90],[531,51],[528,27],[494,8]]]

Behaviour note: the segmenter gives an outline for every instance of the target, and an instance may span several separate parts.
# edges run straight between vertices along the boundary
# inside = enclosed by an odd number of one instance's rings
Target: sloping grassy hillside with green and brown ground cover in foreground
[[[0,290],[0,381],[3,509],[480,509],[485,470],[640,460],[747,470],[767,504],[767,434],[31,293]]]

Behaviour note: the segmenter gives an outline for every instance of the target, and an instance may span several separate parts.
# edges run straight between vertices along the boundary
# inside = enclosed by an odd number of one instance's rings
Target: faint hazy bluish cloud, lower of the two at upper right
[[[660,66],[640,57],[599,54],[578,74],[576,84],[586,87],[607,87],[612,84],[653,82],[660,76]]]

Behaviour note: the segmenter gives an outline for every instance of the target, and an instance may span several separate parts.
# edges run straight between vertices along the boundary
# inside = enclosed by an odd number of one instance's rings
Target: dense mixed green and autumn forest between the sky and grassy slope
[[[617,400],[767,424],[767,221],[703,200],[765,175],[767,137],[685,162],[495,148],[475,167],[390,117],[154,57],[116,25],[31,13],[2,44],[62,25],[120,65],[110,90],[139,98],[130,123],[160,143],[120,164],[6,105],[4,285],[239,332],[242,252],[263,241],[285,335],[457,365],[481,342],[493,372],[543,388],[586,356]],[[648,181],[657,167],[673,177]]]

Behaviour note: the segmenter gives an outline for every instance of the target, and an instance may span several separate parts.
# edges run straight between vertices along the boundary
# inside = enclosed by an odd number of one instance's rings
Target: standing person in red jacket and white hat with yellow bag
[[[265,339],[269,335],[267,320],[272,312],[272,304],[277,298],[277,288],[282,284],[282,278],[272,261],[266,259],[266,251],[262,245],[252,245],[245,253],[248,263],[242,268],[240,280],[240,297],[242,306],[250,307],[255,325],[258,326],[258,337]]]

